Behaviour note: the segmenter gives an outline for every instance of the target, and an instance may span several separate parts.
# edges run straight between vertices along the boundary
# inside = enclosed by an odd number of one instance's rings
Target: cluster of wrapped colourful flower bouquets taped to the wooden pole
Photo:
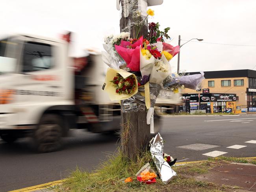
[[[153,16],[154,11],[148,9],[144,20],[144,16],[137,9],[135,12],[131,10],[130,12],[134,19],[134,23],[131,25],[135,25],[137,29],[136,37],[130,37],[127,32],[122,32],[120,35],[110,35],[105,38],[104,49],[106,52],[102,53],[103,61],[109,67],[114,70],[120,70],[121,68],[129,74],[123,76],[124,72],[108,70],[104,84],[106,88],[103,90],[109,93],[111,100],[130,99],[132,102],[145,102],[148,110],[147,124],[150,124],[150,132],[154,133],[154,105],[160,90],[169,89],[173,92],[178,92],[178,88],[183,85],[176,82],[183,82],[182,79],[172,78],[171,65],[169,63],[178,54],[180,47],[165,42],[170,39],[167,34],[170,28],[167,27],[161,31],[159,22],[149,22],[148,34],[138,37],[146,19],[149,16]],[[129,28],[130,25],[127,27]],[[134,78],[130,77],[131,75]],[[173,81],[176,83],[176,87],[171,85]],[[144,88],[140,85],[143,85]],[[137,94],[138,86],[140,86],[140,89],[144,89],[144,99],[141,98],[141,90]]]

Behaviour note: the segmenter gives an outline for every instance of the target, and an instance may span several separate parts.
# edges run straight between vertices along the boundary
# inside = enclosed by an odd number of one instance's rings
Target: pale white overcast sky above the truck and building
[[[101,50],[105,35],[119,33],[115,0],[0,0],[0,6],[0,37],[9,33],[59,37],[70,30],[76,32],[72,44],[72,54],[76,55],[83,48]],[[178,35],[183,40],[198,38],[204,39],[202,42],[254,45],[188,42],[181,48],[181,70],[256,66],[256,0],[163,0],[160,6],[150,8],[155,16],[149,22],[171,27],[173,45],[178,44]],[[176,70],[177,56],[171,65]]]

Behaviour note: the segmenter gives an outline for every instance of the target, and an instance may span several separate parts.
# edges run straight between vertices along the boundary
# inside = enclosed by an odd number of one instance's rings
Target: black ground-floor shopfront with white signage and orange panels
[[[241,106],[236,106],[236,94],[200,93],[183,94],[182,100],[189,100],[189,111],[199,110],[204,113],[241,113]]]

